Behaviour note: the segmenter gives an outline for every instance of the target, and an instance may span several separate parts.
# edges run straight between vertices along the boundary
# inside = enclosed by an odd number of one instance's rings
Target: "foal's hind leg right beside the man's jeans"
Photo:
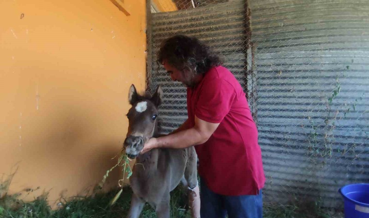
[[[191,208],[191,216],[200,218],[200,189],[197,180],[197,155],[192,147],[188,149],[188,160],[185,169],[185,180],[188,185],[188,203]]]

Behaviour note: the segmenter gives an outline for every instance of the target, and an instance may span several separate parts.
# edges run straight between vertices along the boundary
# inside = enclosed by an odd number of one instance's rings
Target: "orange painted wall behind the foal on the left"
[[[110,0],[0,2],[0,173],[18,168],[11,193],[73,196],[116,163],[129,87],[145,89],[145,4],[124,0],[125,16]]]

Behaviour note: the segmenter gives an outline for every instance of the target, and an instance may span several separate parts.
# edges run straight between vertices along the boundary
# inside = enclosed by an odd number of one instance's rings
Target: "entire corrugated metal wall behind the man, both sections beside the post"
[[[156,52],[174,34],[196,36],[225,66],[257,113],[267,202],[339,207],[338,188],[369,182],[368,0],[245,0],[151,14],[148,91],[164,90],[161,132],[187,118],[186,91],[157,72]]]

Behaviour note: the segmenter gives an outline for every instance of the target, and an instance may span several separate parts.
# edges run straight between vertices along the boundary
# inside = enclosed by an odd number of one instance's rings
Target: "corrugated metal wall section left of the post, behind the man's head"
[[[163,67],[157,72],[156,53],[161,42],[173,35],[196,36],[225,59],[229,67],[246,89],[246,34],[245,2],[237,0],[207,7],[176,12],[151,14],[151,54],[149,68],[149,92],[157,85],[164,91],[164,103],[160,108],[160,128],[171,132],[187,119],[186,88],[174,83]]]

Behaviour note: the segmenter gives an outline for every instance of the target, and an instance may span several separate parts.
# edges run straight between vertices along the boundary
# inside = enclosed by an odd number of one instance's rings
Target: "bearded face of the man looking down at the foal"
[[[182,82],[185,87],[193,87],[195,85],[195,74],[193,72],[178,70],[166,61],[163,62],[163,66],[173,81]]]

